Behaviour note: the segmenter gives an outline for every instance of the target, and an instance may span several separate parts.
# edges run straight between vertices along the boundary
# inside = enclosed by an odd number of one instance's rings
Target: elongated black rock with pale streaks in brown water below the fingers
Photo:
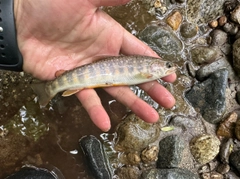
[[[90,135],[82,137],[79,140],[79,145],[93,175],[99,179],[112,179],[112,172],[102,143]]]

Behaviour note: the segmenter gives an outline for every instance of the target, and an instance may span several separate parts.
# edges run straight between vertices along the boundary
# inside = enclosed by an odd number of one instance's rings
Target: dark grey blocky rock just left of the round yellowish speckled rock
[[[178,167],[182,159],[184,141],[177,135],[165,137],[159,142],[158,168]]]

